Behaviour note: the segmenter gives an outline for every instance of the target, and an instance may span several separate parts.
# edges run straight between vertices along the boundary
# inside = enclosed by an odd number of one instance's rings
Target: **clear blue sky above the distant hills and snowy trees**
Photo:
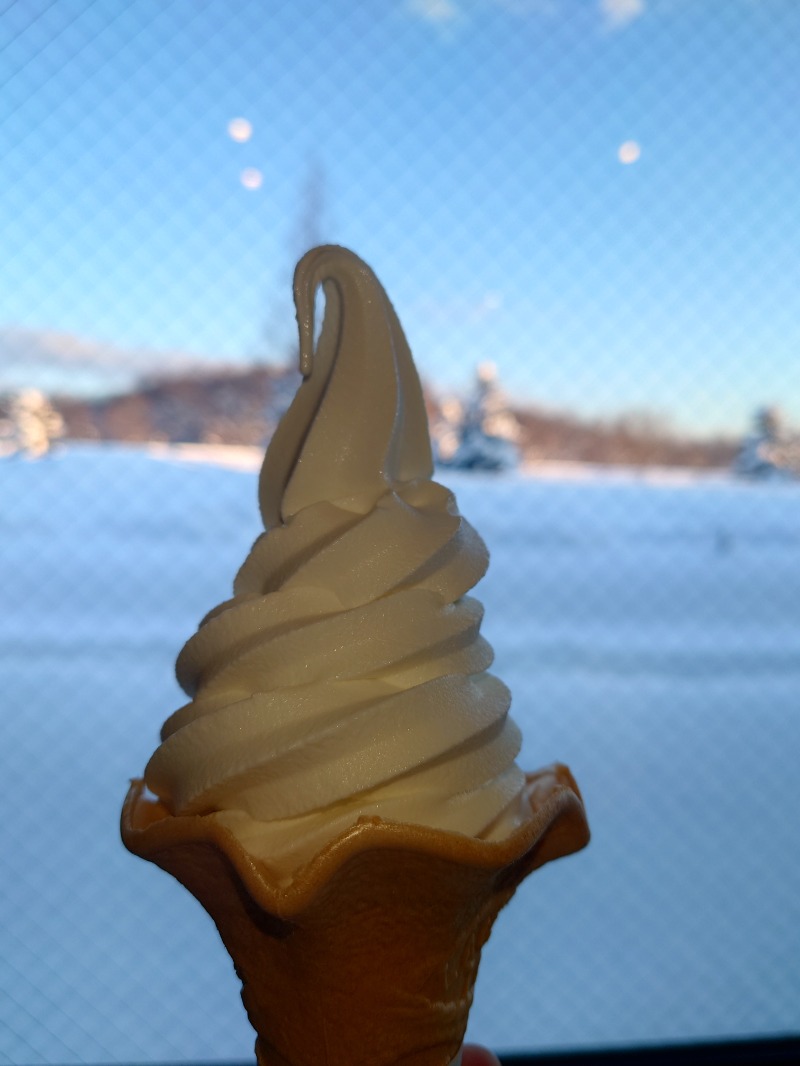
[[[18,0],[0,48],[0,339],[282,358],[316,174],[434,385],[800,423],[795,0]]]

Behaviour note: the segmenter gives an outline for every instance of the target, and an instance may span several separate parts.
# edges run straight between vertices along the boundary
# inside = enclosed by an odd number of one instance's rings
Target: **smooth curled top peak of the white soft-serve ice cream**
[[[325,312],[315,349],[315,298]],[[347,248],[308,252],[294,272],[304,381],[265,457],[265,526],[322,501],[366,512],[387,488],[433,472],[428,420],[397,313]]]

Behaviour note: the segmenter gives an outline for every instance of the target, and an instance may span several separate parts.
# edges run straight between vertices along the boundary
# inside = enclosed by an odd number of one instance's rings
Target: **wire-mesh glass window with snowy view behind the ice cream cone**
[[[252,1056],[118,814],[259,532],[323,241],[400,313],[521,762],[593,830],[470,1038],[796,1033],[800,7],[18,0],[0,55],[0,1063]]]

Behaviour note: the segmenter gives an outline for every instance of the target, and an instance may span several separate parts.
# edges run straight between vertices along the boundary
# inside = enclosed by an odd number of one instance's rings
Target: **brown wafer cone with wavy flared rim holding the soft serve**
[[[363,819],[288,886],[215,820],[173,817],[142,781],[122,834],[215,922],[259,1066],[447,1066],[498,911],[532,870],[589,839],[565,766],[529,775],[528,796],[529,821],[500,842]]]

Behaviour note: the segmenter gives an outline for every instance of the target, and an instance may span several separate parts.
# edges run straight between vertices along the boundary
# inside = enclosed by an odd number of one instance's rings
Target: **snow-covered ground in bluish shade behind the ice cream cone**
[[[492,549],[479,595],[521,761],[567,762],[593,829],[498,921],[469,1036],[797,1032],[800,486],[447,481]],[[210,921],[117,822],[257,522],[252,470],[0,462],[0,1062],[252,1056]]]

